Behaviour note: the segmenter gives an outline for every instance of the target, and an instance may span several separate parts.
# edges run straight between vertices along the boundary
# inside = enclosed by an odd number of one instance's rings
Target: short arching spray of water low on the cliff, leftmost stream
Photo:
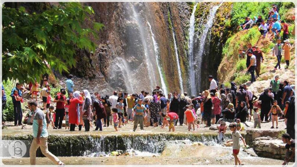
[[[119,69],[121,69],[121,72],[124,76],[124,81],[125,81],[127,91],[134,93],[134,89],[133,89],[134,85],[132,85],[132,83],[134,82],[131,81],[130,76],[132,75],[132,72],[130,71],[129,65],[123,58],[119,58],[119,57],[115,60],[115,63],[119,67]]]

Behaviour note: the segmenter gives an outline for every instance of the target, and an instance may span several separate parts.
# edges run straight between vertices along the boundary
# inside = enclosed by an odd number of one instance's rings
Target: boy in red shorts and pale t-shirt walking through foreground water
[[[234,156],[234,160],[235,160],[235,165],[243,165],[240,161],[240,159],[238,158],[238,153],[239,153],[239,149],[240,149],[240,144],[239,144],[239,139],[241,139],[244,143],[244,146],[247,146],[247,144],[245,143],[244,138],[241,136],[240,132],[237,131],[236,128],[236,123],[230,123],[229,125],[230,131],[232,131],[232,140],[227,141],[233,142],[233,156]]]

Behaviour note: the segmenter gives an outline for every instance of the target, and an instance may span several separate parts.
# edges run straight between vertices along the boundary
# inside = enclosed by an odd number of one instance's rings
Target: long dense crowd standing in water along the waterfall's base
[[[45,113],[47,128],[52,125],[54,129],[61,129],[65,120],[66,128],[70,131],[75,131],[75,127],[78,127],[79,131],[83,127],[85,131],[90,131],[93,125],[96,126],[94,130],[99,131],[102,131],[102,127],[114,125],[118,131],[129,122],[135,125],[133,131],[138,124],[141,130],[148,126],[169,126],[170,131],[175,131],[178,123],[181,126],[187,125],[190,131],[195,130],[195,127],[199,128],[201,124],[209,127],[212,124],[239,122],[240,126],[240,123],[253,118],[255,128],[260,128],[263,121],[272,121],[271,128],[278,128],[278,120],[285,119],[288,133],[293,134],[294,120],[293,117],[288,118],[288,115],[293,114],[293,108],[290,106],[293,105],[295,91],[294,85],[289,85],[287,80],[281,82],[279,77],[275,76],[270,87],[266,88],[259,98],[248,89],[247,84],[240,85],[237,89],[237,85],[230,82],[230,88],[223,84],[218,88],[213,76],[210,75],[208,80],[209,89],[198,97],[191,98],[186,92],[180,94],[175,91],[173,94],[164,95],[159,86],[151,95],[146,91],[141,91],[140,94],[114,91],[111,96],[101,96],[98,92],[91,94],[88,90],[73,92],[72,75],[69,75],[66,81],[66,89],[62,88],[54,98],[50,96],[46,78],[42,89],[39,89],[36,82],[35,86],[31,86],[30,92],[31,98],[37,100],[38,91],[41,90],[41,109]],[[24,90],[26,88],[17,83],[11,91],[15,126],[22,125],[21,97]],[[6,99],[4,91],[2,87],[2,101]],[[2,104],[5,105],[5,102]],[[55,107],[53,104],[56,104]],[[30,124],[34,113],[27,115],[25,120]]]

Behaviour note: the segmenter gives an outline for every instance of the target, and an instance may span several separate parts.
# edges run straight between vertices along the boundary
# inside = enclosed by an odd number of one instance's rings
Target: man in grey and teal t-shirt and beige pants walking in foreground
[[[40,147],[41,152],[53,163],[57,165],[65,165],[55,155],[48,151],[48,131],[46,130],[45,115],[42,110],[37,107],[35,100],[28,101],[28,108],[33,113],[33,141],[30,146],[30,165],[36,164],[36,151]]]

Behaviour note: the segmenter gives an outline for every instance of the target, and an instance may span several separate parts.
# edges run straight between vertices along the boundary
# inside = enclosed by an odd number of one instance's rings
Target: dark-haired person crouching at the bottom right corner
[[[295,140],[291,139],[290,135],[288,133],[282,134],[282,141],[286,144],[286,155],[285,155],[285,161],[282,163],[282,165],[287,165],[288,162],[293,161],[295,162]]]

